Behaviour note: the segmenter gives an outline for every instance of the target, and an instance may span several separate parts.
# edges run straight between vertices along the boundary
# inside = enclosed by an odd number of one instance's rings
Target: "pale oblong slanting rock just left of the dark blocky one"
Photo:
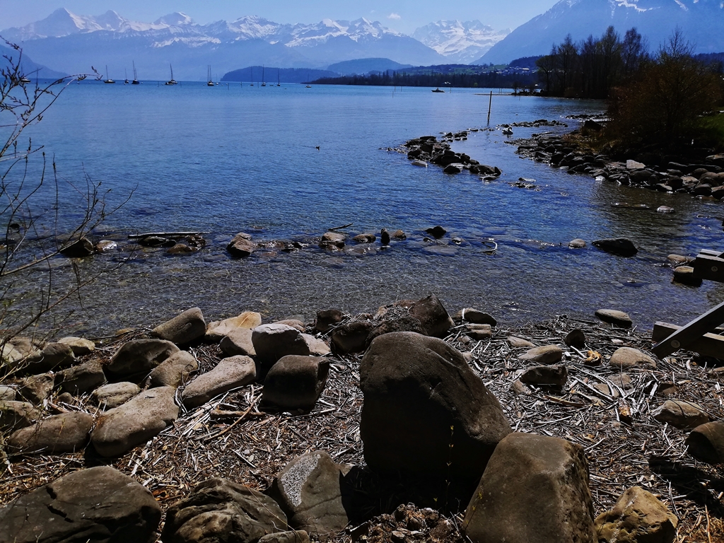
[[[181,397],[185,408],[195,408],[234,388],[243,387],[256,379],[256,366],[248,356],[224,358],[214,369],[190,382]]]

